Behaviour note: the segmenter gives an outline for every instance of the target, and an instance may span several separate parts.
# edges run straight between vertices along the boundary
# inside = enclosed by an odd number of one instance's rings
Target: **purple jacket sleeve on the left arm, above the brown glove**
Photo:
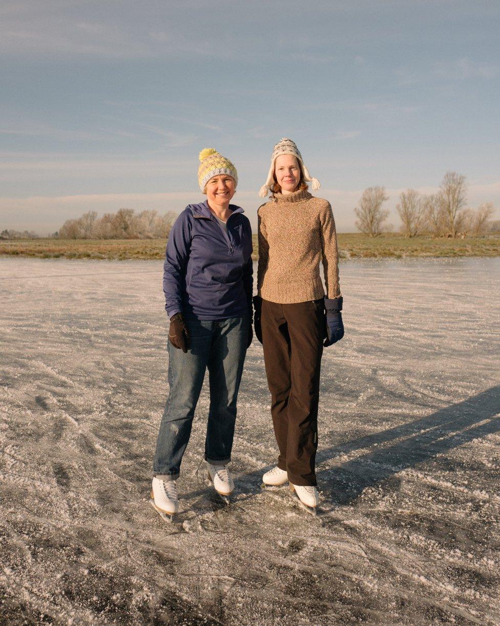
[[[184,211],[170,231],[163,264],[163,293],[169,317],[183,312],[186,267],[190,250],[191,223],[187,211]]]

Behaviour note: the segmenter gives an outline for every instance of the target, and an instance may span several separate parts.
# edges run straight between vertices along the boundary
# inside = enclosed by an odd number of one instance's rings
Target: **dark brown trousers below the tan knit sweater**
[[[276,304],[262,300],[262,347],[277,466],[294,485],[316,485],[319,370],[324,340],[323,299]]]

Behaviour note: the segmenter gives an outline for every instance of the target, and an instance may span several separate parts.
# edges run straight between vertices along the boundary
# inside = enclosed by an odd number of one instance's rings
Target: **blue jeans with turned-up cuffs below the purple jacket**
[[[187,354],[168,342],[170,393],[161,419],[153,463],[154,475],[163,480],[179,477],[207,368],[210,409],[205,459],[217,465],[231,461],[236,399],[248,341],[249,317],[203,321],[187,315],[184,319],[189,331]]]

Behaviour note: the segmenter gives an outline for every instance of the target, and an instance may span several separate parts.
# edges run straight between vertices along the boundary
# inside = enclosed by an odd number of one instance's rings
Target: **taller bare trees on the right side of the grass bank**
[[[370,237],[377,237],[384,230],[389,211],[382,208],[389,200],[384,187],[364,190],[354,212],[356,227]],[[477,237],[491,228],[495,210],[491,202],[476,209],[467,207],[466,178],[456,172],[446,172],[437,193],[423,195],[407,189],[399,195],[396,211],[401,219],[399,230],[406,237],[430,233],[434,237]]]

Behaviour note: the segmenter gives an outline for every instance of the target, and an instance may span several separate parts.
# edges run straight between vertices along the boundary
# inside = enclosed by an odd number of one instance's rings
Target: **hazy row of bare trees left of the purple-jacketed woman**
[[[121,208],[98,218],[95,211],[89,211],[66,220],[56,236],[59,239],[165,239],[176,217],[173,211],[158,215],[154,210],[136,213],[133,208]]]

